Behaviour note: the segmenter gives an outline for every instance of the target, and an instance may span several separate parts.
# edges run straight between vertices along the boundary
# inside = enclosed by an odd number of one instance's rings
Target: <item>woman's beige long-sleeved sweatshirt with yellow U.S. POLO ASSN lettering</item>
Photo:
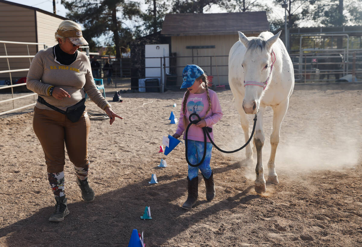
[[[90,62],[84,53],[78,51],[76,60],[69,66],[55,62],[53,47],[38,51],[31,61],[26,87],[37,93],[46,102],[62,110],[66,110],[84,98],[83,88],[89,98],[101,109],[105,109],[108,102],[94,84]],[[48,94],[51,86],[59,86],[67,91],[70,98],[57,100]],[[40,109],[52,110],[46,105],[37,102]]]

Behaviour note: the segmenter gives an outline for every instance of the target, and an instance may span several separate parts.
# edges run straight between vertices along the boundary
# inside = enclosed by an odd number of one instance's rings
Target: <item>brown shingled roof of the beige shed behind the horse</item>
[[[265,11],[236,13],[166,14],[161,34],[166,36],[260,33],[269,30]]]

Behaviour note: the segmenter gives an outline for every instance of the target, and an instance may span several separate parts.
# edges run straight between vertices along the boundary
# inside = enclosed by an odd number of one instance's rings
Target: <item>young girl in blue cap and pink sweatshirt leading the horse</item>
[[[211,127],[217,123],[223,116],[218,96],[212,90],[207,89],[207,76],[202,68],[197,65],[186,65],[182,71],[183,83],[181,88],[187,88],[187,91],[182,100],[180,121],[176,133],[172,136],[179,138],[184,133],[189,124],[189,116],[191,113],[197,113],[202,120],[197,124],[193,124],[188,132],[188,159],[191,164],[198,164],[201,162],[204,151],[204,135],[202,127]],[[193,116],[195,117],[195,116]],[[193,118],[193,120],[196,120]],[[210,137],[214,141],[214,132],[212,131]],[[185,139],[185,135],[184,135]],[[204,162],[198,167],[189,165],[188,171],[188,197],[182,208],[191,209],[195,205],[198,196],[198,172],[199,169],[205,180],[206,185],[206,199],[211,201],[215,197],[215,185],[212,170],[210,168],[211,149],[212,144],[208,137],[206,137],[206,156]]]

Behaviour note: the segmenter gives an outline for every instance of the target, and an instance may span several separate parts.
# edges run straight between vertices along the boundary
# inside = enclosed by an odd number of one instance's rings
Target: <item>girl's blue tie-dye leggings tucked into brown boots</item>
[[[193,165],[198,164],[202,160],[204,145],[205,145],[204,142],[200,142],[200,141],[193,141],[193,140],[187,141],[187,157],[191,164],[193,164]],[[206,179],[209,179],[209,177],[211,176],[211,172],[212,172],[211,167],[210,167],[211,150],[212,150],[212,144],[211,144],[211,142],[207,142],[206,143],[206,155],[205,155],[204,162],[202,162],[202,164],[199,165],[198,167],[192,167],[192,166],[188,165],[190,180],[192,180],[193,178],[198,176],[199,169],[200,169],[202,175],[204,175],[206,177]]]

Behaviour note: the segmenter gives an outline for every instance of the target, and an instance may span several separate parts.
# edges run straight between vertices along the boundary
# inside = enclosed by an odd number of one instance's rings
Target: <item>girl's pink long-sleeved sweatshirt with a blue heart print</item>
[[[186,93],[185,93],[186,94]],[[190,93],[187,101],[186,101],[186,118],[187,123],[189,123],[189,116],[191,113],[197,113],[201,118],[205,117],[206,126],[211,127],[217,123],[222,117],[223,113],[221,111],[221,106],[219,102],[218,95],[211,89],[209,89],[209,95],[211,100],[211,109],[209,113],[206,114],[207,108],[209,108],[209,102],[207,101],[207,93]],[[185,95],[184,95],[185,98]],[[182,99],[182,103],[184,102],[184,98]],[[180,111],[180,120],[178,121],[176,134],[182,135],[184,131],[186,130],[186,126],[184,126],[184,113],[182,112],[182,109],[184,108],[184,105],[181,104],[181,111]],[[194,120],[197,118],[193,116]],[[210,134],[210,137],[212,141],[214,141],[214,131],[212,131]],[[187,138],[189,140],[194,141],[204,141],[203,131],[200,127],[197,127],[196,125],[191,125],[189,128],[189,132],[187,135]],[[185,139],[185,135],[184,135]],[[206,141],[210,142],[209,137],[206,136]]]

